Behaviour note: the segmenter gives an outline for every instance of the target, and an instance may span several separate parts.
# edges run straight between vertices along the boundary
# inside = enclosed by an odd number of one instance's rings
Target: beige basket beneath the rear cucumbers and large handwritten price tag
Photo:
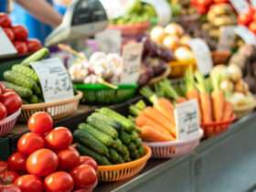
[[[81,97],[82,93],[78,91],[71,99],[22,105],[18,121],[27,122],[35,112],[48,112],[54,120],[59,120],[78,110]]]

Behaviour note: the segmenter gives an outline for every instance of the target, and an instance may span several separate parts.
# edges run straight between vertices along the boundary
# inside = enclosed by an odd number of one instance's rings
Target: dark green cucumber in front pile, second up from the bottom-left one
[[[73,134],[74,140],[80,144],[90,147],[95,152],[101,155],[109,155],[109,149],[91,134],[85,133],[82,130],[76,130]]]

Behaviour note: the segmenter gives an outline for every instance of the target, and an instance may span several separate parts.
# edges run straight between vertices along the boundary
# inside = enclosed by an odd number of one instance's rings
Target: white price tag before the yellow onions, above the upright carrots
[[[201,38],[193,38],[189,41],[189,46],[197,60],[198,70],[203,74],[208,74],[213,67],[213,63],[211,52],[206,42]]]

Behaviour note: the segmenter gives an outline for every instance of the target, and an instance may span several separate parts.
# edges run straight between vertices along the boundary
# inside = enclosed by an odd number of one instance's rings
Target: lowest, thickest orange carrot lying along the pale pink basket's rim
[[[175,140],[171,134],[161,133],[148,125],[142,127],[141,136],[145,142],[167,142]]]

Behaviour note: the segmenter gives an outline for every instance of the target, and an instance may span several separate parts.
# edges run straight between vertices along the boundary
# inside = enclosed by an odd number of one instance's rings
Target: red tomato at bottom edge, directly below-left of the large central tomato
[[[42,192],[43,182],[38,176],[25,175],[19,176],[15,182],[16,186],[21,189],[22,192]]]

